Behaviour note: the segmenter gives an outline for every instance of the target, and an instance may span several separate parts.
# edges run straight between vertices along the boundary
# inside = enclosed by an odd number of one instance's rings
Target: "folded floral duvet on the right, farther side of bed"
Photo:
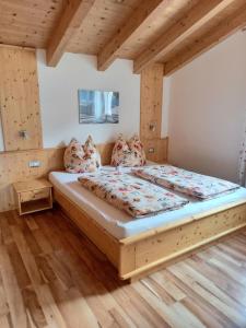
[[[172,165],[153,165],[133,169],[134,175],[191,197],[209,199],[237,189],[239,186],[215,177],[189,172]]]

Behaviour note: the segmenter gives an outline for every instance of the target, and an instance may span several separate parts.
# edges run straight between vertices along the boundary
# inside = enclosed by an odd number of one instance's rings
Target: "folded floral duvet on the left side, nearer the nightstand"
[[[86,174],[79,177],[79,181],[97,197],[133,218],[175,210],[188,202],[168,190],[120,172]]]

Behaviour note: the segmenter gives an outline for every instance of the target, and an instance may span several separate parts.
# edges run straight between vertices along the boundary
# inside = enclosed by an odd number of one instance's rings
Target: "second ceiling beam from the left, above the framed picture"
[[[120,49],[125,46],[126,42],[137,33],[141,26],[157,11],[161,5],[168,5],[173,0],[144,0],[134,10],[132,15],[127,22],[117,31],[115,36],[97,55],[97,69],[99,71],[106,70],[117,58]]]

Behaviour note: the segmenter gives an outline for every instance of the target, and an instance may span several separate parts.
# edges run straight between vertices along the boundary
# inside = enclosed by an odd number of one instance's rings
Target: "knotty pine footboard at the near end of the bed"
[[[130,279],[246,226],[246,203],[120,241],[119,277]]]

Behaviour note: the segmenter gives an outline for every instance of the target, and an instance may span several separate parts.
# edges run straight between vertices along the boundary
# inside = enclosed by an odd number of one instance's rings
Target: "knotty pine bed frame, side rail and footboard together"
[[[246,202],[237,201],[117,239],[56,188],[54,194],[66,214],[116,267],[121,280],[138,279],[246,226]]]

